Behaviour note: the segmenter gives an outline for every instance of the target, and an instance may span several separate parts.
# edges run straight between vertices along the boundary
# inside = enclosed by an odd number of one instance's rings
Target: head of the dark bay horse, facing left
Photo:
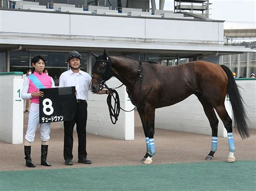
[[[105,49],[103,55],[98,56],[94,53],[92,53],[92,55],[95,56],[96,61],[92,70],[93,75],[91,89],[93,93],[97,93],[103,88],[104,83],[112,77],[113,73],[111,68],[111,60]]]

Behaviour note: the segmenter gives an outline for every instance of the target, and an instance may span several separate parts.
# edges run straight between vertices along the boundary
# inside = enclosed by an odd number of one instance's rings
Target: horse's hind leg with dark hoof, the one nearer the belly
[[[219,120],[215,115],[215,111],[210,102],[208,102],[202,95],[197,95],[198,100],[203,105],[205,115],[210,122],[210,126],[212,128],[212,147],[210,153],[207,155],[205,160],[212,160],[214,153],[217,151],[218,145],[218,123]]]

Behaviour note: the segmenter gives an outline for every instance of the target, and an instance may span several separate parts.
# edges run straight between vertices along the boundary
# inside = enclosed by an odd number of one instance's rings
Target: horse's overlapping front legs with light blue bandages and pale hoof
[[[152,163],[152,157],[154,155],[154,138],[153,137],[154,137],[154,114],[155,114],[155,110],[156,109],[153,108],[151,105],[148,106],[148,107],[145,107],[144,109],[138,109],[138,112],[140,114],[140,118],[142,119],[143,130],[144,130],[144,134],[145,134],[145,137],[146,137],[145,140],[146,140],[147,152],[146,152],[145,156],[142,159],[142,162],[144,164],[151,164]]]

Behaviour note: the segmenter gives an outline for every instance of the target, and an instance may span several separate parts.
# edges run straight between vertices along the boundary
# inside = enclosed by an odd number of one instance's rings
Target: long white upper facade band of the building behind
[[[31,23],[45,27],[32,27]],[[89,41],[102,43],[104,40],[107,43],[111,40],[111,44],[129,42],[136,48],[145,42],[159,45],[170,42],[224,44],[223,22],[214,20],[0,10],[0,32],[6,37],[0,39],[1,44],[17,44],[18,39],[19,45],[87,47]]]

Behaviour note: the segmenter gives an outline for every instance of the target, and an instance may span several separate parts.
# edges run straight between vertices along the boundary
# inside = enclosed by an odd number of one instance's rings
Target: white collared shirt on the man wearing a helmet
[[[92,77],[79,69],[78,73],[73,73],[71,69],[63,72],[59,77],[59,87],[75,86],[77,90],[77,100],[88,100],[88,92]]]

